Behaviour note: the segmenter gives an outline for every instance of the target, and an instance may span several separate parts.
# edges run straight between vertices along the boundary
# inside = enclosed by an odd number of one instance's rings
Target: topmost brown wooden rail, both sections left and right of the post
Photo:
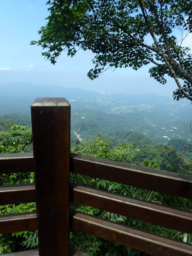
[[[33,153],[22,153],[23,158],[18,155],[0,154],[0,174],[14,172],[14,166],[21,173],[34,171]],[[192,176],[73,153],[70,162],[72,173],[192,199]]]

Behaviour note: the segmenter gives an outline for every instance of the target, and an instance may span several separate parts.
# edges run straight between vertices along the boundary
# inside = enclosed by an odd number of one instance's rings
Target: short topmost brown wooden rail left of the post
[[[33,171],[33,153],[0,154],[0,173],[26,173]]]

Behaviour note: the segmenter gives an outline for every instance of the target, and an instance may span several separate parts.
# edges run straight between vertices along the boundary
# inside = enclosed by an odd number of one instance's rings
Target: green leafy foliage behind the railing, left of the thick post
[[[13,120],[0,119],[0,153],[22,153],[32,149],[32,130],[16,125]],[[0,185],[34,183],[34,173],[0,174]],[[36,210],[36,203],[0,206],[0,214],[15,214]],[[38,245],[37,231],[0,234],[0,254],[34,248]]]

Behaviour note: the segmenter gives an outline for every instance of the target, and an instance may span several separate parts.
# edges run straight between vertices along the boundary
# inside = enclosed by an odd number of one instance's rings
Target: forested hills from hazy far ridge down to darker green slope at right
[[[30,105],[36,97],[65,97],[71,104],[71,146],[100,138],[113,148],[135,143],[140,152],[130,161],[143,165],[155,161],[157,168],[173,165],[168,158],[169,145],[178,151],[190,146],[191,106],[186,100],[156,95],[100,94],[77,88],[12,83],[0,86],[0,116],[30,127]],[[185,123],[185,124],[184,124]],[[188,153],[190,156],[190,153]],[[178,157],[177,157],[178,159]]]

